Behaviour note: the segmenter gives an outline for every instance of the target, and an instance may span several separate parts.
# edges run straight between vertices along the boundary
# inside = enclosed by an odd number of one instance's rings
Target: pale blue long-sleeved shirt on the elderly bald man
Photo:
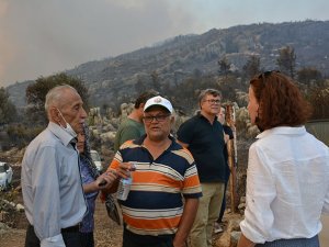
[[[42,247],[65,247],[60,229],[80,223],[87,210],[71,139],[50,122],[31,142],[22,161],[25,214]]]

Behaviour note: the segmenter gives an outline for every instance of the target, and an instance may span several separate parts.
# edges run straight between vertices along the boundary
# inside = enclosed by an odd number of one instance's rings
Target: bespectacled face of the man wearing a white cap
[[[159,142],[168,138],[173,117],[161,106],[155,106],[144,113],[145,132],[150,141]]]

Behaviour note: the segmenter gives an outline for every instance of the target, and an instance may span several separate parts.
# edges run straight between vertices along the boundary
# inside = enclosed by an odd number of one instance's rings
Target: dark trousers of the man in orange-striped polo
[[[123,247],[173,247],[174,235],[138,235],[124,228]]]

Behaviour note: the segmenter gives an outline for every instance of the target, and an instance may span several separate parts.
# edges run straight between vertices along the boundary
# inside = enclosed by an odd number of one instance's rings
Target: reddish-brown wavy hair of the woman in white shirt
[[[294,81],[279,71],[263,72],[250,80],[257,101],[260,130],[276,126],[298,126],[311,115],[309,103]]]

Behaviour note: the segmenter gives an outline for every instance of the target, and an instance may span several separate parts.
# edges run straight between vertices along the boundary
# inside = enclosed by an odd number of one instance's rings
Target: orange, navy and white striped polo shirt
[[[174,234],[183,213],[183,198],[202,195],[196,166],[191,153],[171,137],[170,147],[154,159],[143,146],[144,138],[124,143],[109,168],[128,161],[136,165],[128,198],[121,201],[123,220],[135,234]]]

